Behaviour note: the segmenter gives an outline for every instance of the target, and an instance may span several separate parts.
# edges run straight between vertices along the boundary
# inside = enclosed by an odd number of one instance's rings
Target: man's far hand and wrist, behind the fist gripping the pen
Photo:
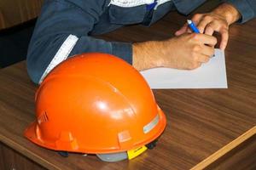
[[[239,20],[241,15],[232,5],[223,3],[215,8],[211,13],[195,14],[192,20],[201,33],[212,36],[214,31],[221,34],[220,48],[224,50],[229,40],[230,24]],[[188,24],[185,24],[180,30],[175,32],[176,36],[180,36],[185,32],[191,32]]]

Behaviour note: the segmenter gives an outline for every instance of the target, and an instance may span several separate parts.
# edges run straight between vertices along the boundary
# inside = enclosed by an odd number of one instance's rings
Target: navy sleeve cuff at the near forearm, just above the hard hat
[[[131,42],[112,42],[112,54],[132,65]]]

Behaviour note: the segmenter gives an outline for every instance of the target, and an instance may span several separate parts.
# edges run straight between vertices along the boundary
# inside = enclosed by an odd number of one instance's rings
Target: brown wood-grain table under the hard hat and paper
[[[131,42],[165,39],[172,37],[185,19],[171,13],[150,28],[125,27],[104,38]],[[96,156],[79,154],[63,158],[55,151],[32,144],[22,133],[35,119],[33,99],[37,86],[27,76],[25,62],[1,70],[0,168],[255,169],[255,28],[256,20],[230,27],[230,42],[225,50],[228,89],[154,90],[158,104],[166,113],[166,131],[154,150],[132,161],[107,163]]]

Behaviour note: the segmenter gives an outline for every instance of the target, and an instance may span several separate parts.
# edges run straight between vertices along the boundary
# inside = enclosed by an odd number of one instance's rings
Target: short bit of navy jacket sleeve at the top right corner
[[[244,23],[256,16],[256,0],[225,0],[225,3],[232,4],[241,14],[239,23]]]

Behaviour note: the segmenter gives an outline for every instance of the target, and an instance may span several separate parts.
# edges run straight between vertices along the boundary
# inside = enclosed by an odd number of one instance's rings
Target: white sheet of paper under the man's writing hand
[[[192,70],[154,68],[141,71],[150,88],[228,88],[224,51],[215,49],[207,64]]]

